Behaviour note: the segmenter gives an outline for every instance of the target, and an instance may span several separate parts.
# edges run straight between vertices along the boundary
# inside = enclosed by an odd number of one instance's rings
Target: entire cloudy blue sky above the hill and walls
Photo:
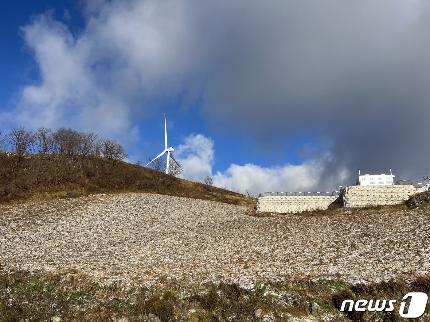
[[[185,179],[329,191],[429,169],[425,1],[1,1],[0,128],[169,146]],[[411,157],[413,155],[413,157]]]

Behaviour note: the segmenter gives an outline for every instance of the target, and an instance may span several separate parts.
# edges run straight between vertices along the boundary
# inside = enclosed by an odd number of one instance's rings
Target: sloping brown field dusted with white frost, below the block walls
[[[430,207],[284,218],[245,210],[143,193],[1,206],[0,265],[76,268],[96,277],[243,281],[303,273],[356,282],[429,271]]]

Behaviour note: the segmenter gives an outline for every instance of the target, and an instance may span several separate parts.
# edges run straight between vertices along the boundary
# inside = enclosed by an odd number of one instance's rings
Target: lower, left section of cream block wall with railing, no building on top
[[[266,196],[257,200],[258,211],[300,213],[305,210],[327,209],[339,196]]]

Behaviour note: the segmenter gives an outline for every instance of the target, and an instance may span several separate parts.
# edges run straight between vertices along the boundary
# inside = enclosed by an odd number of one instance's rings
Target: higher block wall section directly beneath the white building
[[[339,199],[344,207],[394,205],[408,200],[415,191],[413,185],[351,185]]]

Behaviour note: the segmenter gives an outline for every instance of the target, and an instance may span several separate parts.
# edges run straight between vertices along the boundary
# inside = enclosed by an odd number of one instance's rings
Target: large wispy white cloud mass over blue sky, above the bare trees
[[[15,126],[64,125],[133,141],[128,133],[135,114],[188,91],[184,75],[197,68],[197,58],[186,54],[193,47],[184,39],[187,12],[181,3],[155,1],[90,1],[84,7],[87,21],[79,33],[52,12],[21,28],[39,77],[1,116]]]

